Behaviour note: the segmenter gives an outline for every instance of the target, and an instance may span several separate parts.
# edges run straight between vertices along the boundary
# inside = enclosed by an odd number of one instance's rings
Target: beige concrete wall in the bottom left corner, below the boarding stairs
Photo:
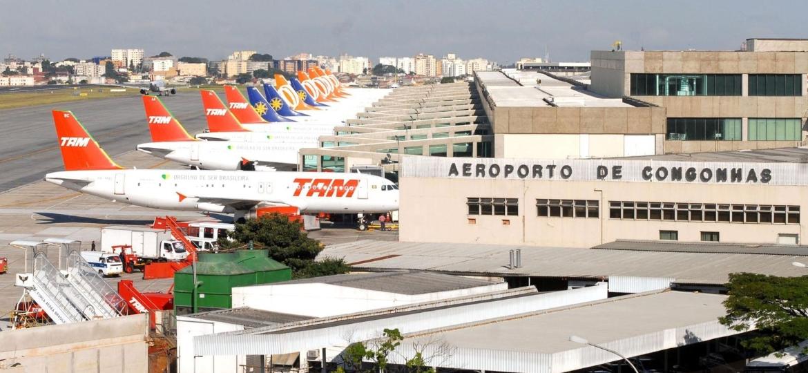
[[[0,360],[30,373],[146,372],[148,329],[146,315],[132,315],[8,330],[0,333]]]

